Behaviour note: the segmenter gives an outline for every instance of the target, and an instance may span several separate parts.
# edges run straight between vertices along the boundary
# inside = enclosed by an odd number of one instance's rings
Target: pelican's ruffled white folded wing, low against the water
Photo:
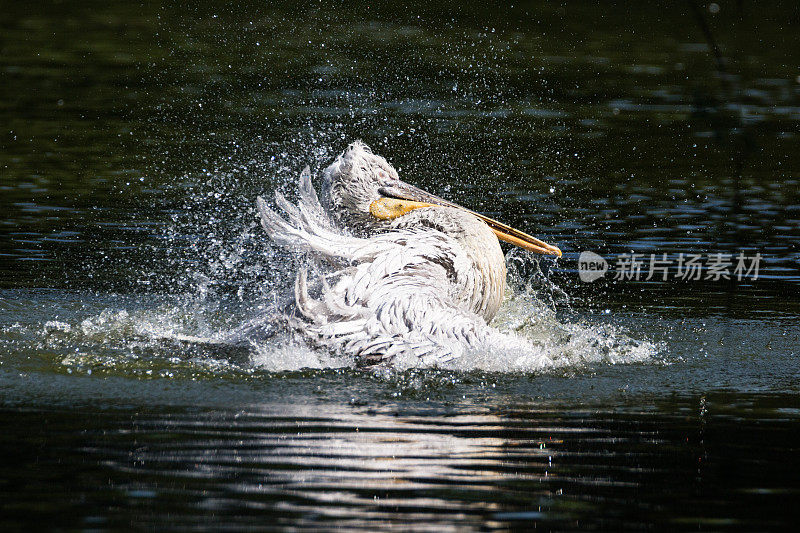
[[[377,276],[384,264],[390,268],[388,258],[381,256],[347,272],[319,299],[308,295],[301,272],[295,288],[301,314],[295,319],[297,328],[316,344],[368,365],[398,356],[423,364],[446,363],[489,329],[480,317],[454,308],[446,295],[408,271]]]

